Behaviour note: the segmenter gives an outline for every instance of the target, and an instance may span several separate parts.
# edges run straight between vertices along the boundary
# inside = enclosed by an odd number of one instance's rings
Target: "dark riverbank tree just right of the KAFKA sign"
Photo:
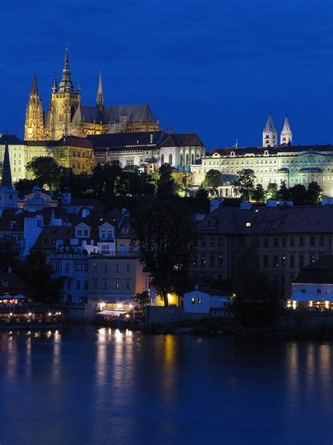
[[[259,258],[251,250],[238,254],[233,277],[235,299],[231,304],[244,327],[273,325],[280,314],[278,285],[259,268]]]

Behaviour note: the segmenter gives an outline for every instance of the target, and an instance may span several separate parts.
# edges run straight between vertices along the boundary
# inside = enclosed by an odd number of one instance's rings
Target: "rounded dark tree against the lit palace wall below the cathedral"
[[[39,187],[58,187],[63,168],[51,156],[37,156],[27,163],[27,171],[37,179]]]

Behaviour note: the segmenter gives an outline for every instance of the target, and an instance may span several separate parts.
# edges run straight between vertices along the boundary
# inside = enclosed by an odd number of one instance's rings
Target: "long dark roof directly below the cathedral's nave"
[[[91,140],[95,149],[112,149],[122,148],[124,146],[147,146],[152,144],[156,145],[161,142],[164,134],[165,133],[163,131],[91,134],[88,136],[88,139]]]

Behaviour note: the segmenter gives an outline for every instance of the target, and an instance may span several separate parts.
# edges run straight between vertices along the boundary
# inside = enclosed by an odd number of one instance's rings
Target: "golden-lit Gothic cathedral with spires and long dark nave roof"
[[[159,130],[159,122],[147,104],[104,106],[102,75],[100,73],[96,106],[81,104],[81,89],[74,91],[70,61],[66,49],[63,78],[53,80],[51,101],[43,111],[34,72],[27,112],[25,140],[58,140],[65,136],[86,137],[89,134],[119,132],[150,132]]]

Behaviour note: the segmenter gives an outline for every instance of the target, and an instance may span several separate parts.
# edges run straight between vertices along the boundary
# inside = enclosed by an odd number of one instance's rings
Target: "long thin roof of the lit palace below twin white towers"
[[[333,151],[333,145],[283,145],[274,147],[254,146],[254,147],[242,147],[242,148],[228,148],[228,149],[213,149],[209,156],[214,153],[218,153],[221,156],[230,156],[231,152],[235,153],[235,156],[244,156],[245,154],[263,155],[268,152],[270,155],[278,155],[278,153],[297,153],[300,151],[306,152],[318,152],[321,151]]]

